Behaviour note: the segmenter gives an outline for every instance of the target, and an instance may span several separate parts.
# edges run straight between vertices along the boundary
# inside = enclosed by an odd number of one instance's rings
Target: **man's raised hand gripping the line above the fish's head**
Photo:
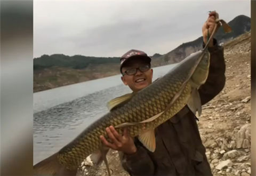
[[[203,39],[204,39],[204,43],[207,43],[207,35],[209,33],[209,37],[212,34],[213,28],[215,25],[217,25],[217,23],[215,22],[215,20],[219,18],[219,15],[217,12],[212,11],[209,13],[209,17],[208,19],[205,21],[203,28],[202,28],[202,33],[203,33]],[[217,29],[215,31],[218,30],[218,28],[220,27],[220,25],[218,24]],[[213,38],[211,39],[210,43],[209,43],[209,47],[213,46]]]

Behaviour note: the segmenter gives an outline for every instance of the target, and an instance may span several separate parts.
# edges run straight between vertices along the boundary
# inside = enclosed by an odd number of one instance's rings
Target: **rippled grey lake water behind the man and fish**
[[[153,68],[153,80],[174,65]],[[34,164],[56,153],[107,113],[106,103],[125,93],[121,75],[34,93]]]

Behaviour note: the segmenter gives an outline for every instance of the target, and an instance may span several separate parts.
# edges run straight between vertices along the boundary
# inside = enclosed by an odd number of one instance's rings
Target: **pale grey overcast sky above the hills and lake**
[[[131,49],[165,54],[202,36],[213,10],[229,22],[241,14],[251,17],[251,2],[34,0],[34,58],[121,57]]]

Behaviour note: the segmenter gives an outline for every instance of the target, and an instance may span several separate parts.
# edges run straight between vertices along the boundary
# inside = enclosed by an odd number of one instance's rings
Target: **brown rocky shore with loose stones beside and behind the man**
[[[251,33],[225,43],[226,85],[203,106],[198,128],[213,175],[251,175]],[[129,175],[110,150],[113,176]],[[85,161],[78,175],[107,175],[106,166]]]

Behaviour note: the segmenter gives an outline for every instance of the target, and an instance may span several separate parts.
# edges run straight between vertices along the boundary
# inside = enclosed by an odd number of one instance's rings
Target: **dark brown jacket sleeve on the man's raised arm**
[[[208,48],[210,52],[210,68],[206,82],[199,87],[201,103],[213,99],[225,86],[225,60],[223,55],[223,47],[217,45],[214,39],[214,46]]]

